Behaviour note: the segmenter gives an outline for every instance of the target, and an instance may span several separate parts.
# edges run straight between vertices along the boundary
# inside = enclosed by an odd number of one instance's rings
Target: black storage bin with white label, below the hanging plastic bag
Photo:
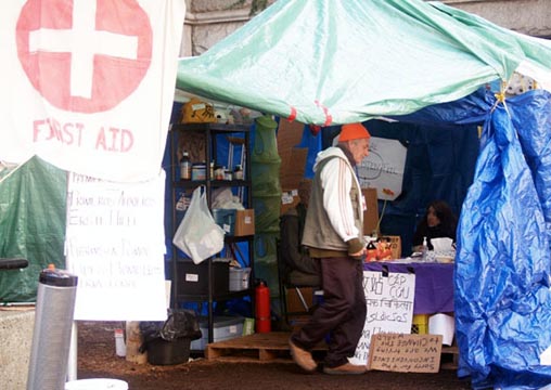
[[[228,259],[212,260],[213,292],[227,294],[230,290],[230,266]],[[177,264],[178,294],[179,295],[207,295],[208,294],[208,260],[200,264],[191,261],[181,261]]]

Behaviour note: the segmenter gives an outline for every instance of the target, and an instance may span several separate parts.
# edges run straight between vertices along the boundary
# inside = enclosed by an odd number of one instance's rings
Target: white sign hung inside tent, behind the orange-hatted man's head
[[[399,141],[372,136],[369,155],[358,166],[361,187],[377,188],[380,199],[396,199],[401,194],[407,152]]]

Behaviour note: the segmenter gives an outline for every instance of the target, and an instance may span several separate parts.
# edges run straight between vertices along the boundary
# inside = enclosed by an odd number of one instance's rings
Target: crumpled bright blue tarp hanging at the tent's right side
[[[551,384],[551,95],[533,91],[488,109],[456,259],[459,375],[473,388]]]

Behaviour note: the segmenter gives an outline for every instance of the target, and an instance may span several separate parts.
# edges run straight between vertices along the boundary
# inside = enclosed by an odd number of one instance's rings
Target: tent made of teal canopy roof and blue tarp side
[[[537,88],[504,99],[514,72]],[[458,232],[458,375],[476,389],[551,382],[548,41],[437,2],[279,0],[180,60],[177,87],[324,127],[484,123]]]

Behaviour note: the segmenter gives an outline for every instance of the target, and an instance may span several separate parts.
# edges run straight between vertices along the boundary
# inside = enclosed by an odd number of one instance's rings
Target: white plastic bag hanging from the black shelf
[[[223,230],[218,226],[208,209],[206,194],[198,186],[193,191],[190,206],[178,226],[172,244],[188,255],[195,264],[218,253],[223,248]]]

